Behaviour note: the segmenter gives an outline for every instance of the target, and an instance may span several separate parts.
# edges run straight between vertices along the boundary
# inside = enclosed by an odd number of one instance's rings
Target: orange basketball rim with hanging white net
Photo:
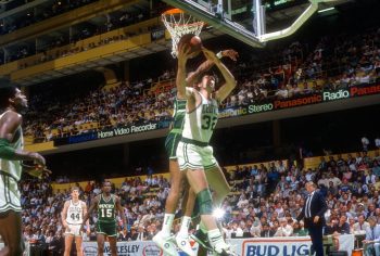
[[[197,20],[180,9],[172,9],[161,14],[161,20],[172,36],[172,55],[177,56],[179,39],[187,34],[199,36],[204,22]]]

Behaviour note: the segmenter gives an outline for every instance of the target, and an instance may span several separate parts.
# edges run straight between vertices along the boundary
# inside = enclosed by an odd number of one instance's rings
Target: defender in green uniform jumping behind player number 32
[[[191,59],[192,55],[186,53],[186,44],[178,46],[178,63],[186,62],[187,59]],[[220,57],[228,56],[232,61],[237,61],[238,52],[235,50],[225,50],[220,51]],[[183,60],[185,59],[185,60]],[[180,67],[180,64],[178,65]],[[186,82],[189,86],[192,86],[195,84],[197,80],[200,79],[201,75],[212,68],[214,66],[214,63],[206,60],[203,62],[195,72],[189,73]],[[178,69],[178,74],[180,78],[181,73],[186,73],[183,69]],[[181,81],[176,80],[176,85],[181,84]],[[186,95],[180,94],[177,90],[176,94],[176,102],[175,102],[175,115],[174,115],[174,121],[173,121],[173,129],[170,130],[169,135],[166,138],[165,141],[165,148],[169,156],[169,171],[170,171],[170,191],[166,199],[166,205],[165,205],[165,216],[164,221],[162,226],[162,230],[154,235],[153,241],[163,249],[165,255],[168,256],[176,256],[178,255],[175,242],[177,243],[177,246],[187,255],[194,255],[190,242],[189,242],[189,226],[191,221],[191,213],[193,208],[193,204],[195,201],[195,195],[193,193],[189,193],[188,196],[185,196],[183,205],[183,216],[180,225],[180,230],[176,235],[176,241],[173,241],[173,236],[170,233],[172,225],[175,217],[175,210],[178,205],[178,201],[180,197],[181,190],[183,188],[182,184],[182,176],[181,171],[179,170],[179,166],[177,163],[177,145],[180,141],[181,133],[182,133],[182,126],[183,126],[183,119],[186,115]],[[223,176],[223,172],[221,172]],[[224,188],[219,188],[219,191],[227,191],[226,193],[223,192],[223,194],[226,194],[229,192],[229,185],[227,181],[225,183],[220,183],[220,187],[224,185]],[[186,203],[188,204],[186,204]]]

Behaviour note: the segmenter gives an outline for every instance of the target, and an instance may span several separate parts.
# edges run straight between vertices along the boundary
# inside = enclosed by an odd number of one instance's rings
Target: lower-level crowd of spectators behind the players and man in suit
[[[297,221],[307,194],[305,183],[315,181],[326,197],[328,210],[325,234],[364,235],[372,216],[380,223],[380,154],[367,152],[321,156],[318,167],[305,169],[282,161],[261,165],[236,166],[227,179],[231,192],[223,203],[220,217],[227,238],[304,236],[308,232],[303,221]],[[87,204],[99,193],[100,183],[88,182],[80,197]],[[145,178],[127,177],[113,192],[121,196],[127,219],[127,232],[118,218],[118,241],[148,241],[161,230],[164,205],[170,184],[162,175]],[[21,182],[23,205],[23,232],[30,244],[53,248],[62,240],[60,213],[69,192],[53,193],[49,180],[24,179]],[[180,207],[176,213],[181,215]],[[97,216],[90,218],[94,241]],[[179,223],[174,226],[174,232]],[[194,228],[190,229],[194,232]],[[52,245],[53,244],[53,245]],[[54,245],[54,246],[55,246]],[[63,244],[60,245],[61,247]]]

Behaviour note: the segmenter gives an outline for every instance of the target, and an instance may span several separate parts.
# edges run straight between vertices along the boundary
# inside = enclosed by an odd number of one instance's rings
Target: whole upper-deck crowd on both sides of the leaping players
[[[231,67],[239,86],[223,103],[223,107],[261,103],[269,99],[291,99],[322,90],[375,82],[380,78],[379,36],[380,29],[370,29],[352,38],[338,37],[335,41],[325,37],[311,52],[294,42],[282,51],[284,64],[271,66],[267,71],[253,66],[252,60],[242,60]],[[340,43],[343,38],[345,43]],[[302,60],[304,56],[307,57]],[[335,69],[326,69],[331,66],[335,66]],[[157,81],[173,79],[174,76],[173,71],[165,71],[155,79],[124,81],[111,90],[89,90],[66,102],[54,97],[31,95],[33,111],[26,118],[26,133],[38,138],[37,142],[40,142],[104,128],[167,120],[175,97],[174,81],[159,92],[149,89],[156,88]],[[83,124],[90,125],[80,128]]]

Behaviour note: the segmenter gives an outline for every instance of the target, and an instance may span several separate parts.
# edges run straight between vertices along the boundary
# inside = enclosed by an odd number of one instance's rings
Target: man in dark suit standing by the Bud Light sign
[[[327,210],[327,204],[325,197],[316,191],[316,188],[313,181],[305,184],[308,196],[296,219],[299,221],[304,219],[305,228],[308,229],[312,238],[312,251],[314,249],[316,256],[324,256],[322,229],[326,223],[325,213]]]

